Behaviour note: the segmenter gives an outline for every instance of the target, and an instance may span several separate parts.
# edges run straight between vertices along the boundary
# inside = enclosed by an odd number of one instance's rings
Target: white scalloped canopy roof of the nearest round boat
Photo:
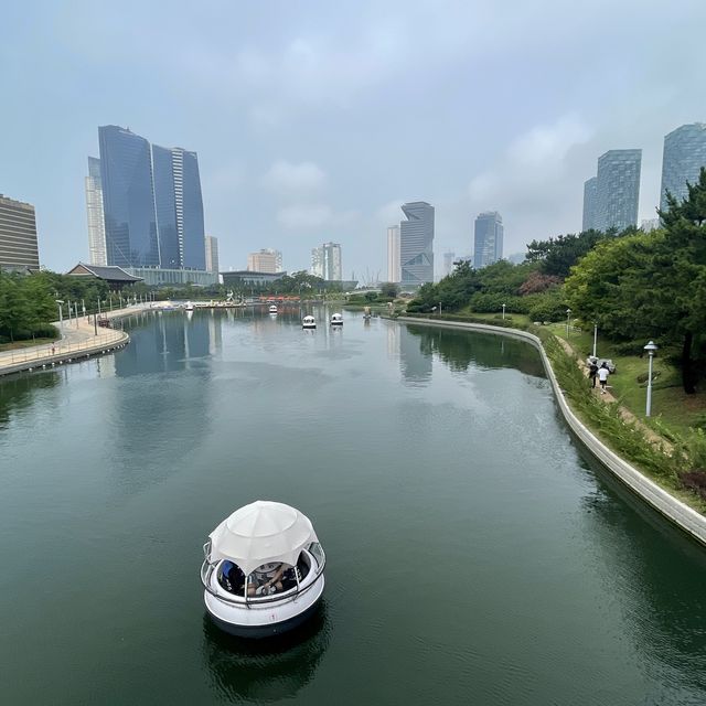
[[[295,566],[301,550],[319,542],[306,515],[290,505],[267,500],[236,510],[208,538],[208,560],[229,559],[246,576],[272,561]]]

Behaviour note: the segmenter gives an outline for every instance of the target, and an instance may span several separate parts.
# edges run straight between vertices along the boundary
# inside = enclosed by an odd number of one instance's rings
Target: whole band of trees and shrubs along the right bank
[[[693,394],[706,376],[706,170],[685,199],[667,194],[667,204],[650,233],[586,231],[533,240],[520,265],[459,263],[424,285],[407,310],[498,313],[504,304],[534,321],[560,321],[570,309],[625,353],[657,341]]]

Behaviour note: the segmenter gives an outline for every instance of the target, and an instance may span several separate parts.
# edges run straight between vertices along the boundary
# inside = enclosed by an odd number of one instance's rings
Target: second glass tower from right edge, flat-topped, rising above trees
[[[609,150],[598,158],[596,182],[597,231],[623,231],[638,225],[642,150]]]

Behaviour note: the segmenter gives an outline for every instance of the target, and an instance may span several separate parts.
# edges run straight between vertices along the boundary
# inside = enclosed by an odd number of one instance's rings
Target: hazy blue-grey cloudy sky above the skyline
[[[407,0],[10,3],[0,23],[0,193],[35,205],[40,256],[88,257],[98,125],[199,153],[221,268],[343,247],[385,278],[399,204],[436,206],[441,254],[498,210],[505,254],[576,232],[609,149],[642,148],[653,217],[664,135],[706,121],[706,2]]]

